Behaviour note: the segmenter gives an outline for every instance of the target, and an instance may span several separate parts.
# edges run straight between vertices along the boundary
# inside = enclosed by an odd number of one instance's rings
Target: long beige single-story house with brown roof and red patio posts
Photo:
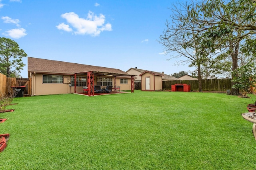
[[[28,57],[28,77],[32,80],[32,96],[82,93],[94,96],[94,86],[120,86],[134,92],[134,76],[116,68],[68,63]]]

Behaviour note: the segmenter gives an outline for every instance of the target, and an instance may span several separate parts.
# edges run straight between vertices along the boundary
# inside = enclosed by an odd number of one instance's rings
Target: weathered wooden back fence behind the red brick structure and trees
[[[171,90],[172,84],[190,84],[190,90],[199,90],[198,80],[170,80],[163,81],[162,88],[164,90]],[[203,91],[219,91],[226,92],[226,90],[231,89],[231,79],[206,79],[202,80],[202,90]]]

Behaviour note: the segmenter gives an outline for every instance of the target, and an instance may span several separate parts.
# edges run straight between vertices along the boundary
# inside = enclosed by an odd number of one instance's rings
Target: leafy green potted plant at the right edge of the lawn
[[[234,72],[233,80],[234,85],[232,88],[237,88],[241,94],[242,98],[248,98],[248,94],[251,94],[251,90],[256,88],[256,66],[254,62],[248,62],[247,64],[241,66]],[[252,99],[252,98],[251,98]],[[256,100],[253,104],[248,104],[247,109],[249,112],[255,112],[256,110]]]

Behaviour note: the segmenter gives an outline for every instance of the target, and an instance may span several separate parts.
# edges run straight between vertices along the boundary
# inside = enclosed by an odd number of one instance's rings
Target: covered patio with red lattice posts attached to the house
[[[96,84],[94,84],[94,76],[99,76],[99,77],[109,77],[109,78],[114,78],[114,84],[112,84],[113,88],[116,87],[116,77],[127,77],[130,76],[131,77],[131,92],[134,92],[134,75],[130,75],[128,73],[115,73],[115,72],[100,72],[100,71],[84,71],[84,72],[76,72],[74,73],[74,82],[76,82],[76,76],[77,75],[84,75],[86,77],[86,84],[88,87],[87,90],[87,95],[88,96],[94,96],[94,95],[98,95],[100,93],[95,93],[94,92],[94,86]],[[76,94],[76,83],[74,84],[74,93]],[[115,93],[121,93],[121,92],[111,92],[108,94],[115,94]],[[80,93],[81,94],[81,93]],[[103,94],[101,94],[103,95]]]

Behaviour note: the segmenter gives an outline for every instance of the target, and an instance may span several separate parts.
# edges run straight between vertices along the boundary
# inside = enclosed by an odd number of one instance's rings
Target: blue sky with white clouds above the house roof
[[[0,37],[28,57],[166,74],[194,70],[167,61],[156,40],[171,0],[0,0]],[[27,57],[21,76],[28,77]]]

